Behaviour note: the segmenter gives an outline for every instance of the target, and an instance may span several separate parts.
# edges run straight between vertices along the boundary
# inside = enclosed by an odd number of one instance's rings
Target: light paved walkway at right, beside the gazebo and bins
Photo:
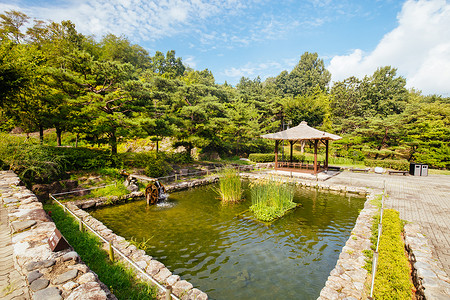
[[[402,176],[343,172],[327,183],[370,187],[380,192],[386,182],[386,208],[400,212],[400,218],[422,227],[433,244],[435,257],[450,276],[450,176]]]

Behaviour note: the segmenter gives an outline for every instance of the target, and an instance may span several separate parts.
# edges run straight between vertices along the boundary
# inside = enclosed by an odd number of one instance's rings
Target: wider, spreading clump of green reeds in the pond
[[[289,182],[263,178],[250,184],[252,205],[250,211],[261,221],[270,222],[282,217],[297,206],[293,201],[294,185]]]

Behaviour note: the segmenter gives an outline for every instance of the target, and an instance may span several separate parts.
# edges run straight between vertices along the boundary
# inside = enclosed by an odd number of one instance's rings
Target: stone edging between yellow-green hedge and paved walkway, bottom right
[[[418,299],[448,299],[450,278],[442,271],[439,260],[433,257],[434,247],[420,233],[418,224],[406,224],[405,247],[413,266],[412,279]]]

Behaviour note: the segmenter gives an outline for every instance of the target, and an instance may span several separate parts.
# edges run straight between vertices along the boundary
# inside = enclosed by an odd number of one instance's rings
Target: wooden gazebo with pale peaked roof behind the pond
[[[328,170],[328,143],[329,141],[335,141],[341,139],[340,136],[331,134],[325,131],[317,130],[308,126],[305,121],[301,122],[298,126],[276,132],[261,135],[262,138],[275,140],[275,170],[289,170],[289,171],[300,171],[300,172],[312,172],[314,175],[317,174],[320,169]],[[289,141],[290,148],[290,161],[289,162],[278,162],[278,145],[280,141]],[[292,161],[292,150],[294,144],[299,141],[313,141],[314,142],[314,164],[308,164],[304,162],[294,163]],[[317,164],[317,148],[319,146],[319,141],[323,143],[326,147],[325,150],[325,161],[321,166],[320,163]]]

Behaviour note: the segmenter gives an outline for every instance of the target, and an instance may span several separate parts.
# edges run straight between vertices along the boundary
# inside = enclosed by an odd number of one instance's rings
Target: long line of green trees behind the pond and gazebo
[[[317,53],[278,76],[216,84],[205,69],[183,65],[175,51],[151,56],[123,36],[99,41],[70,21],[0,14],[0,129],[55,128],[90,143],[173,137],[187,153],[247,155],[272,151],[259,135],[305,120],[342,135],[336,156],[408,159],[449,167],[450,99],[405,88],[396,69],[336,82]]]

